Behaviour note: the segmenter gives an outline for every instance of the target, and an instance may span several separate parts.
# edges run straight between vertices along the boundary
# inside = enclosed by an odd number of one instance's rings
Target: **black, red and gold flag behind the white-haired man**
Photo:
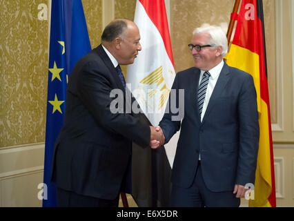
[[[237,26],[226,62],[229,66],[253,76],[259,112],[259,150],[254,195],[251,195],[254,200],[249,200],[249,206],[275,207],[275,172],[262,0],[243,0],[239,15],[232,14],[231,17],[237,20]]]

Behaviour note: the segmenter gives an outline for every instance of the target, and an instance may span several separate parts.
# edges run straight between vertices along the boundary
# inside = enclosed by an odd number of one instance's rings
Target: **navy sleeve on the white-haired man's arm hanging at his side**
[[[256,91],[251,75],[246,75],[239,94],[239,158],[236,184],[245,185],[255,181],[257,151],[259,145],[259,122]]]

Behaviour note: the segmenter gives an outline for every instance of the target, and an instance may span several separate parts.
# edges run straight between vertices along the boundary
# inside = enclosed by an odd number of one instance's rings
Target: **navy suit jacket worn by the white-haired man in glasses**
[[[173,184],[184,188],[192,184],[199,153],[204,182],[210,191],[233,191],[235,184],[254,184],[259,123],[253,77],[224,64],[201,122],[197,104],[199,75],[198,68],[189,68],[175,77],[173,88],[184,89],[182,125],[171,120],[173,113],[166,113],[159,124],[166,142],[181,127]]]

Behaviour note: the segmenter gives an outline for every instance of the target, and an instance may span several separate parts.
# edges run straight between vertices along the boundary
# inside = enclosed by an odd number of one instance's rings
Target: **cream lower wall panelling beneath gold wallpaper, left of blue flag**
[[[44,152],[44,143],[0,148],[0,206],[41,206]]]

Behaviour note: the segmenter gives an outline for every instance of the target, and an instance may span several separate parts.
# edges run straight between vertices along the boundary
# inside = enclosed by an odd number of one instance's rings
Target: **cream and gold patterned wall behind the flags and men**
[[[82,2],[92,48],[100,44],[109,21],[134,17],[135,0]],[[37,186],[43,182],[49,20],[37,19],[40,3],[50,6],[50,0],[0,0],[0,206],[41,206]],[[228,23],[234,0],[166,3],[179,71],[193,66],[187,49],[193,29],[202,23]],[[294,206],[293,4],[264,0],[277,206]],[[247,204],[242,200],[242,206]]]

